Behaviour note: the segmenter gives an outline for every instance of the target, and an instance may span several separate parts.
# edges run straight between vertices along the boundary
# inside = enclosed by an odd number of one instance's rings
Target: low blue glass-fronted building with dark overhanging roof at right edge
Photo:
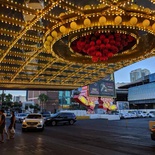
[[[155,109],[155,73],[120,86],[128,90],[127,101],[132,109]]]

